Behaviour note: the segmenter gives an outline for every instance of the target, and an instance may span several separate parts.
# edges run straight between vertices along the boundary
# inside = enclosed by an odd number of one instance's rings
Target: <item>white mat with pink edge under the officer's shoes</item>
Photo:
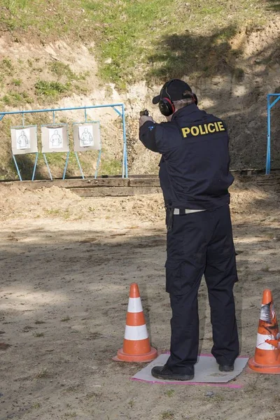
[[[233,372],[220,372],[216,359],[209,355],[200,355],[198,362],[195,365],[195,377],[192,381],[166,381],[154,378],[151,370],[154,366],[165,365],[169,354],[161,354],[149,363],[144,369],[140,370],[132,377],[134,380],[152,382],[153,384],[220,384],[220,386],[229,386],[231,388],[241,388],[237,384],[227,384],[232,379],[235,379],[246,366],[248,358],[240,357],[235,360],[235,370]]]

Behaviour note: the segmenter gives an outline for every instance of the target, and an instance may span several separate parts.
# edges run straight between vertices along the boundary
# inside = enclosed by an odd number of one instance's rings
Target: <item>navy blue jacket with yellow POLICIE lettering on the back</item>
[[[228,132],[225,123],[195,104],[176,111],[167,123],[147,121],[139,138],[162,155],[160,186],[177,209],[215,209],[230,203]]]

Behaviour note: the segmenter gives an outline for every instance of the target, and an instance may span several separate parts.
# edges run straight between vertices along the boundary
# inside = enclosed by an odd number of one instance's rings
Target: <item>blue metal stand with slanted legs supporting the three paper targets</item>
[[[55,127],[55,126],[59,126],[62,127],[65,124],[57,124],[55,123],[55,113],[56,112],[60,112],[60,111],[78,111],[78,110],[83,110],[85,112],[85,121],[83,123],[73,123],[73,125],[75,124],[85,124],[85,123],[98,123],[99,125],[99,130],[100,130],[100,123],[99,121],[90,121],[87,120],[87,109],[101,109],[101,108],[111,108],[114,111],[116,111],[116,113],[118,114],[118,116],[120,116],[122,118],[122,123],[123,123],[123,171],[122,171],[122,177],[123,178],[127,178],[128,174],[127,174],[127,141],[126,141],[126,126],[125,126],[125,105],[124,104],[105,104],[105,105],[90,105],[90,106],[76,106],[76,107],[71,107],[71,108],[57,108],[57,109],[37,109],[37,110],[31,110],[31,111],[9,111],[9,112],[0,112],[0,121],[4,118],[4,116],[7,115],[22,115],[22,126],[20,127],[11,127],[11,128],[28,128],[28,127],[35,127],[35,126],[25,126],[25,114],[29,114],[29,113],[43,113],[43,112],[52,112],[52,124],[48,124],[48,125],[42,125],[41,127]],[[68,125],[66,125],[68,127]],[[68,136],[68,130],[67,130],[67,136]],[[101,141],[100,141],[101,144]],[[57,150],[57,152],[59,152]],[[55,152],[55,153],[57,153]],[[53,152],[52,152],[53,153]],[[69,163],[69,154],[70,151],[67,152],[66,154],[66,162],[65,162],[65,166],[64,166],[64,172],[63,172],[63,176],[62,179],[65,179],[66,176],[66,170],[68,167],[68,163]],[[82,176],[83,179],[85,179],[85,176],[83,174],[83,169],[80,165],[80,160],[78,158],[78,153],[75,152],[76,155],[76,160],[78,162],[78,167],[80,169],[80,174]],[[100,150],[99,150],[99,154],[98,154],[98,158],[97,158],[97,167],[96,167],[96,171],[94,174],[94,178],[97,178],[97,174],[98,174],[98,169],[99,169],[99,163],[101,160],[101,155],[102,155],[102,150],[101,150],[101,146],[100,146]],[[48,164],[48,160],[45,156],[45,153],[43,153],[43,159],[45,161],[45,165],[48,168],[48,173],[50,176],[50,179],[52,180],[52,174],[50,172],[50,166]],[[20,174],[20,169],[18,167],[18,162],[15,159],[15,155],[13,154],[13,161],[15,162],[15,168],[18,172],[18,177],[20,179],[20,181],[22,181],[22,176]],[[35,179],[35,172],[36,172],[36,167],[37,167],[37,163],[38,163],[38,151],[36,152],[36,158],[35,158],[35,163],[34,163],[34,168],[33,168],[33,173],[32,173],[32,181],[34,181]]]

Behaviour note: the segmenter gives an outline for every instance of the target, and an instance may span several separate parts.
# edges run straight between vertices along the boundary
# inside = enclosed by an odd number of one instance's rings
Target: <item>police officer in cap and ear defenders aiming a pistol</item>
[[[166,290],[172,307],[171,354],[153,367],[160,379],[194,377],[199,344],[197,293],[204,274],[211,307],[212,354],[222,372],[239,353],[233,286],[237,279],[230,220],[233,182],[228,132],[220,118],[201,111],[183,80],[165,83],[153,104],[166,123],[141,116],[139,138],[162,155],[160,183],[167,207]]]

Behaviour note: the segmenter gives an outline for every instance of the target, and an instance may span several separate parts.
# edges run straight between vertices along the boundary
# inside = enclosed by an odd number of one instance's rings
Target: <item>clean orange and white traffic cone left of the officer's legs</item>
[[[158,356],[148,338],[141,297],[137,283],[130,286],[130,299],[127,308],[125,339],[122,349],[113,360],[123,362],[150,362]]]

